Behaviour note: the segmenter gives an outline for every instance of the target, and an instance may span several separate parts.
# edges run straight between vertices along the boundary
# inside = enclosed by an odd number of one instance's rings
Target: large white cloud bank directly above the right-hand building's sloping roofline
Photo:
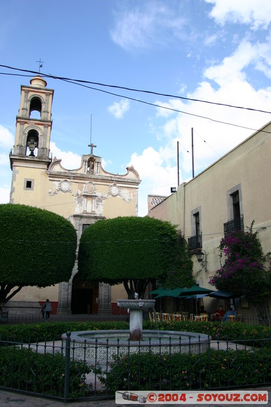
[[[226,57],[220,64],[209,67],[203,72],[206,80],[199,83],[193,93],[187,95],[191,99],[207,100],[212,102],[225,103],[230,105],[252,107],[255,109],[270,110],[271,88],[256,90],[249,83],[246,70],[252,66],[258,68],[258,63],[264,59],[265,68],[270,69],[269,60],[264,55],[263,50],[266,44],[252,44],[244,40],[237,49]],[[214,82],[214,84],[213,84]],[[158,193],[169,195],[170,186],[176,182],[176,144],[179,142],[179,163],[180,163],[180,183],[191,177],[192,173],[192,129],[194,129],[194,168],[195,175],[208,165],[212,164],[237,146],[246,137],[254,133],[270,121],[270,114],[261,112],[251,112],[246,109],[223,107],[196,101],[183,102],[178,99],[171,99],[168,102],[156,103],[166,107],[172,107],[187,113],[195,114],[191,120],[191,115],[184,113],[171,113],[169,110],[163,113],[163,109],[158,109],[160,117],[165,118],[163,126],[159,129],[159,136],[164,142],[164,148],[159,152],[152,148],[143,151],[142,155],[134,154],[131,163],[139,172],[142,184],[140,185],[139,197],[145,192],[145,202],[147,193]],[[197,117],[197,116],[198,117]],[[210,118],[202,119],[199,116]],[[217,123],[225,123],[245,126],[242,127]],[[182,180],[182,173],[184,179]],[[161,188],[151,188],[151,186],[167,185]],[[144,201],[140,205],[145,207]]]

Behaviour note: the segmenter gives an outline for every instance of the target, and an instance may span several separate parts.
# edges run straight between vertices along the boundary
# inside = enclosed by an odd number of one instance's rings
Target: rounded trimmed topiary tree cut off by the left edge
[[[70,279],[77,236],[63,216],[2,204],[0,230],[0,303],[5,304],[23,286],[46,287]]]

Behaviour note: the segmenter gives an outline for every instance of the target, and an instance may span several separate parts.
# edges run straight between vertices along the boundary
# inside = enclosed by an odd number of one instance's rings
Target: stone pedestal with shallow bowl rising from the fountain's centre
[[[142,339],[142,311],[153,308],[155,300],[117,300],[118,307],[129,309],[130,313],[130,340]]]

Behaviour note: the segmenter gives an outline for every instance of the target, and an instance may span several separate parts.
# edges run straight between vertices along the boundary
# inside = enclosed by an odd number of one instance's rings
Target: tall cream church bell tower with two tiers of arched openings
[[[41,173],[52,161],[50,134],[53,90],[46,88],[46,80],[35,76],[30,85],[21,85],[21,100],[16,118],[14,147],[10,152],[12,169],[11,203],[33,205],[33,196],[26,191],[40,189]],[[36,185],[35,185],[36,184]]]

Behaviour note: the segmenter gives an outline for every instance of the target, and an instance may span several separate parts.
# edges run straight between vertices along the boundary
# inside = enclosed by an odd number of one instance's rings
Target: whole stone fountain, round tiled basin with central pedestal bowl
[[[132,353],[199,353],[208,348],[210,337],[184,331],[142,330],[143,309],[153,308],[155,300],[117,300],[119,307],[129,309],[130,330],[101,330],[69,332],[73,356],[89,363],[105,365],[114,355]],[[63,334],[65,343],[68,334]]]

